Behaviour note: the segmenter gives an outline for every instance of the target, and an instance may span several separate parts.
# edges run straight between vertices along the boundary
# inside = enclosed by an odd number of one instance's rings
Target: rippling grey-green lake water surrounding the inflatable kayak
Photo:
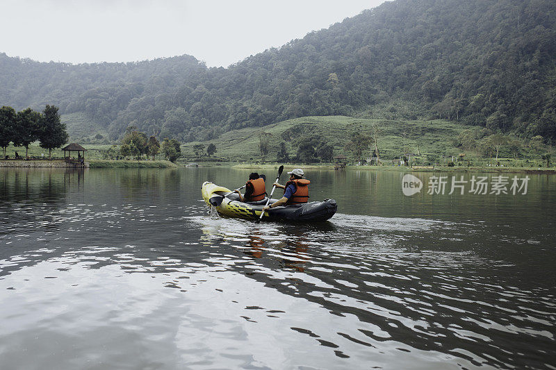
[[[0,367],[556,369],[556,176],[306,172],[325,224],[208,215],[249,171],[0,169]]]

